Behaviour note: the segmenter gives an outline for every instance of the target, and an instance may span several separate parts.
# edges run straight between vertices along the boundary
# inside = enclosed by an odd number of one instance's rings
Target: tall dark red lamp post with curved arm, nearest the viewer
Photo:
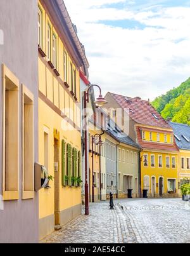
[[[88,185],[88,175],[87,175],[87,103],[89,103],[89,90],[96,86],[99,88],[99,97],[96,98],[94,104],[98,107],[102,107],[107,102],[101,94],[101,88],[97,84],[89,84],[87,91],[84,91],[84,140],[85,140],[85,215],[89,215],[89,185]]]

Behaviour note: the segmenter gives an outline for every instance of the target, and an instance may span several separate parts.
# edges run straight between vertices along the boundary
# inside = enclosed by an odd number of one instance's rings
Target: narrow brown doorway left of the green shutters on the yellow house
[[[59,193],[59,141],[54,138],[54,224],[60,225]]]

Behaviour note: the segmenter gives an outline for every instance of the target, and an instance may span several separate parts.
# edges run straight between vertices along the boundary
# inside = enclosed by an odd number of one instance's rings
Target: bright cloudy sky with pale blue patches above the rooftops
[[[89,80],[153,100],[190,77],[190,0],[64,0]]]

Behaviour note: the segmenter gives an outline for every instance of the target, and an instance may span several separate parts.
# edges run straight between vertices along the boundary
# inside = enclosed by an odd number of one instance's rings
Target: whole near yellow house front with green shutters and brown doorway
[[[40,239],[81,213],[79,69],[84,62],[61,24],[59,8],[39,1],[39,163],[49,178],[39,191]]]

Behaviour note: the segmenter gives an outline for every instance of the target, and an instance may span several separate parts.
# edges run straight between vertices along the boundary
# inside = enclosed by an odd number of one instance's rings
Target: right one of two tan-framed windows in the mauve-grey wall
[[[34,198],[34,96],[23,85],[23,199]]]

